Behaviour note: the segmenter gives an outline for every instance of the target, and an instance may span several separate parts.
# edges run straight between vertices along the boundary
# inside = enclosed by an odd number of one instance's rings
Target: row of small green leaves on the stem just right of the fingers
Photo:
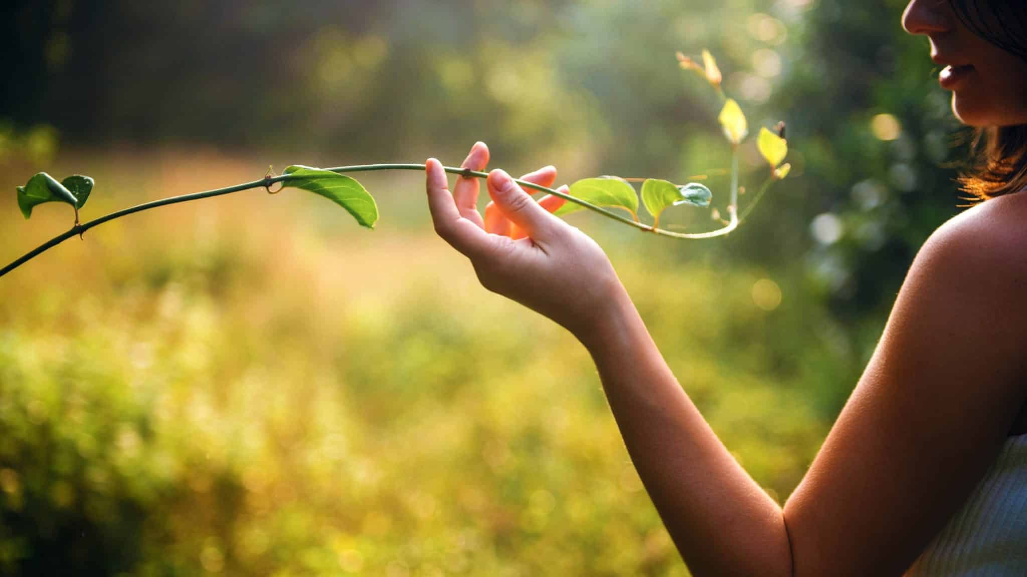
[[[639,197],[623,179],[616,177],[600,177],[584,179],[570,186],[570,194],[598,206],[623,208],[638,220]],[[648,179],[642,184],[642,203],[656,222],[659,215],[669,206],[690,204],[692,206],[709,206],[713,194],[707,187],[689,183],[677,186],[668,181]],[[562,217],[583,208],[580,204],[568,202],[560,207],[555,215]]]

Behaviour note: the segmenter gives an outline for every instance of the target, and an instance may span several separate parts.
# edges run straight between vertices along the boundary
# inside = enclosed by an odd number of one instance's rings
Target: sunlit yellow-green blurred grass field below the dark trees
[[[121,151],[52,172],[97,179],[93,218],[265,169]],[[23,220],[33,171],[5,172],[4,262],[71,224],[56,204]],[[107,224],[0,279],[0,574],[687,574],[583,348],[478,284],[420,176],[366,183],[373,232],[250,191]],[[575,219],[785,499],[828,426],[824,312],[788,279]]]

